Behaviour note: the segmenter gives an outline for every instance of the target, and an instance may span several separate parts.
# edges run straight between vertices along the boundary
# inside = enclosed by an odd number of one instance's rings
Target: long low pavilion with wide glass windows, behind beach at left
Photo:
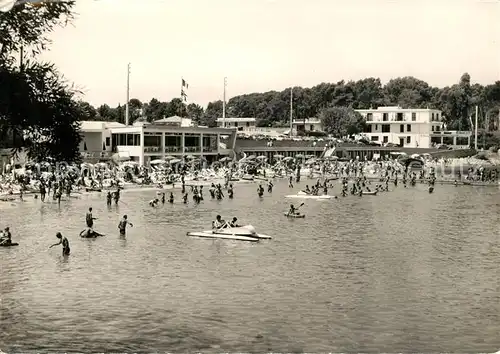
[[[97,124],[93,123],[103,123],[102,130],[98,131]],[[85,126],[87,130],[83,131]],[[93,128],[92,131],[89,127]],[[82,136],[88,142],[85,145],[87,150],[80,150],[84,157],[90,150],[89,146],[92,149],[101,146],[98,154],[101,157],[106,152],[114,156],[117,154],[123,160],[148,165],[150,161],[166,156],[182,158],[192,155],[211,162],[220,156],[232,155],[236,130],[150,123],[108,127],[105,122],[90,122],[82,124]],[[228,137],[228,143],[221,144],[221,137]]]

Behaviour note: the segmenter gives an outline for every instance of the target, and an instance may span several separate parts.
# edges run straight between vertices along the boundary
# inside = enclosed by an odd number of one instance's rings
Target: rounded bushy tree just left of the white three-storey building
[[[363,116],[350,107],[323,108],[319,112],[319,119],[325,132],[336,137],[354,135],[364,130]]]

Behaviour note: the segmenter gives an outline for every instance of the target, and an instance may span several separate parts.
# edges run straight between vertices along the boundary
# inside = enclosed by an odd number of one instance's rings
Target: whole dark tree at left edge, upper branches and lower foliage
[[[14,56],[25,46],[36,58],[50,43],[46,35],[72,19],[73,5],[20,5],[0,13],[0,135],[12,136],[11,147],[27,149],[35,160],[78,161],[78,122],[85,112],[53,65],[33,60],[18,69]]]

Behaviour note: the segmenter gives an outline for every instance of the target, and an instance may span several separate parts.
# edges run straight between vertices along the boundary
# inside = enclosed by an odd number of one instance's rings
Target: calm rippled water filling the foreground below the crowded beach
[[[283,216],[286,183],[263,200],[150,208],[153,191],[0,206],[18,247],[0,249],[7,352],[494,352],[500,349],[500,192],[424,186],[308,200]],[[178,195],[179,192],[176,192]],[[294,200],[296,204],[300,200]],[[298,202],[298,203],[297,203]],[[92,206],[96,230],[78,233]],[[123,214],[134,223],[117,234]],[[220,213],[274,237],[186,237]],[[56,231],[68,237],[64,259]]]

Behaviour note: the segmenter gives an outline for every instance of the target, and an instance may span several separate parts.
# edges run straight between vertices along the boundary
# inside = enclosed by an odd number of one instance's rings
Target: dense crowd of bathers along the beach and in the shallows
[[[273,181],[277,178],[287,178],[289,187],[294,188],[294,183],[299,183],[304,177],[312,180],[312,183],[299,193],[313,197],[329,196],[329,190],[335,187],[335,182],[340,186],[339,197],[376,195],[388,192],[390,185],[407,187],[417,183],[425,183],[429,193],[432,193],[437,181],[451,181],[455,185],[476,182],[498,185],[499,175],[496,166],[477,163],[471,158],[460,164],[456,160],[438,161],[429,156],[401,154],[372,161],[359,158],[345,160],[336,156],[317,158],[298,155],[292,158],[276,155],[271,161],[264,156],[244,156],[238,161],[226,157],[209,166],[206,161],[196,159],[153,162],[149,167],[139,166],[131,161],[119,165],[101,162],[95,165],[58,166],[45,162],[26,164],[17,169],[5,166],[4,173],[0,176],[0,201],[21,202],[30,195],[42,202],[52,199],[60,205],[61,201],[78,198],[82,193],[104,192],[106,203],[111,206],[119,203],[121,190],[149,187],[158,190],[157,197],[149,205],[158,207],[160,204],[174,203],[176,189],[180,189],[180,200],[183,203],[188,203],[190,196],[194,203],[200,203],[204,200],[204,191],[207,189],[209,198],[232,199],[234,183],[253,181],[258,183],[258,197],[262,197],[265,193],[264,186],[268,193],[272,193]],[[457,169],[457,165],[462,168]],[[447,168],[451,168],[451,174]],[[207,187],[205,190],[204,186]],[[164,191],[165,189],[170,189],[170,192]],[[294,215],[296,209],[293,204],[290,205],[288,215]],[[94,220],[90,208],[81,237],[103,236],[93,229]],[[215,220],[213,224],[219,225],[219,221]],[[237,219],[233,218],[232,224],[235,225],[236,222]],[[120,235],[125,235],[127,226],[132,224],[127,215],[124,215],[118,224]],[[69,254],[68,240],[60,233],[56,236],[59,242],[51,247],[62,245],[63,254]],[[12,236],[7,227],[0,232],[0,246],[11,244]]]

